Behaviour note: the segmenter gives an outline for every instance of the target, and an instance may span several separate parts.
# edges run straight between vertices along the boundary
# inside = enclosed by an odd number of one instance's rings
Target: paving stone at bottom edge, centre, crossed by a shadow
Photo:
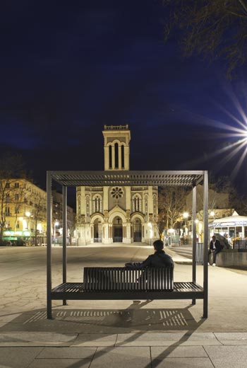
[[[90,368],[151,368],[150,349],[146,347],[98,348]]]

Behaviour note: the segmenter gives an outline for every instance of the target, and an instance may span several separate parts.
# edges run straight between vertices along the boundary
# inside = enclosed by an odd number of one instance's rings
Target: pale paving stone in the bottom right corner
[[[244,346],[206,346],[215,368],[246,368],[247,345]]]

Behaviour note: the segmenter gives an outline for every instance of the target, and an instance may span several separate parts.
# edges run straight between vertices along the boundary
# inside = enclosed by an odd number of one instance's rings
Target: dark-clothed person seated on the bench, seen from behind
[[[156,240],[153,243],[155,253],[150,254],[143,262],[128,262],[126,268],[145,268],[145,267],[174,267],[174,261],[171,256],[164,253],[164,243],[162,240]]]

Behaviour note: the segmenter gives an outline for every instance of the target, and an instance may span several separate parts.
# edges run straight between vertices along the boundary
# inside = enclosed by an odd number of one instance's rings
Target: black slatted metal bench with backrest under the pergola
[[[195,282],[174,282],[174,268],[84,268],[83,282],[66,282],[52,289],[52,299],[133,300],[203,299]]]

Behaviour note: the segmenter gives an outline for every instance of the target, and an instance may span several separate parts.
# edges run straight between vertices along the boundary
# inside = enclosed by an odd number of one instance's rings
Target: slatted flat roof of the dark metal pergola
[[[51,171],[61,185],[164,185],[192,186],[203,181],[203,171]]]

